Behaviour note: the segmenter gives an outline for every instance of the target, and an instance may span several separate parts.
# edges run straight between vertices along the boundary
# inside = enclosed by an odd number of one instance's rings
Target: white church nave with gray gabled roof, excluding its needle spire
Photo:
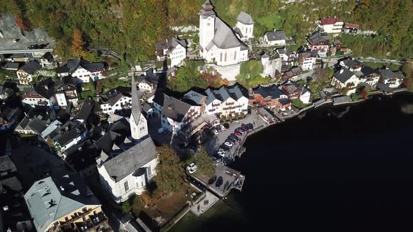
[[[127,142],[132,143],[130,140]],[[134,194],[142,194],[156,175],[158,153],[151,137],[131,146],[116,146],[118,154],[102,151],[97,159],[99,180],[116,203],[126,201]]]

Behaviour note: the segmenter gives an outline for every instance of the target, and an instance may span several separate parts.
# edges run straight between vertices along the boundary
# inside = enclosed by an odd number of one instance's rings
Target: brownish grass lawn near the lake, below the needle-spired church
[[[190,188],[190,191],[188,192],[188,196],[185,196],[188,187]],[[160,198],[162,196],[162,191],[160,189],[155,189],[152,196],[155,203],[154,207],[151,205],[152,207],[145,208],[144,203],[141,202],[141,198],[136,196],[132,205],[132,211],[136,215],[139,215],[139,212],[144,211],[150,217],[154,218],[162,216],[163,219],[169,221],[169,219],[172,219],[172,217],[186,205],[186,201],[192,201],[190,194],[194,191],[196,190],[190,187],[189,184],[183,183],[179,191],[176,191],[173,194],[166,194],[163,198]]]

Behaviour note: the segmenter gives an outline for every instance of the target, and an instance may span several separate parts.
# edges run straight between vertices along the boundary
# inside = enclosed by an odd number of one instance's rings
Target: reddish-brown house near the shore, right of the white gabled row
[[[266,87],[258,86],[253,89],[252,103],[257,103],[260,107],[268,108],[269,110],[281,109],[281,99],[288,99],[276,85],[269,85]]]

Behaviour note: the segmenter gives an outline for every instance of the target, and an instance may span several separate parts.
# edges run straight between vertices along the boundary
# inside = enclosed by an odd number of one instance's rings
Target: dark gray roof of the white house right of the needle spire
[[[182,122],[183,117],[185,117],[191,105],[185,101],[174,98],[173,96],[164,97],[164,105],[162,108],[162,115],[169,117],[176,122]]]

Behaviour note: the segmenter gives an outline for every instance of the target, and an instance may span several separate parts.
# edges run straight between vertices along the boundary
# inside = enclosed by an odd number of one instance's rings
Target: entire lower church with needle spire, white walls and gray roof
[[[131,136],[123,143],[113,143],[110,152],[102,150],[97,159],[97,170],[102,186],[116,203],[126,201],[134,194],[142,194],[146,185],[156,175],[158,153],[148,135],[148,122],[141,113],[137,85],[132,73],[132,113],[129,118]],[[108,136],[116,137],[116,133]]]

